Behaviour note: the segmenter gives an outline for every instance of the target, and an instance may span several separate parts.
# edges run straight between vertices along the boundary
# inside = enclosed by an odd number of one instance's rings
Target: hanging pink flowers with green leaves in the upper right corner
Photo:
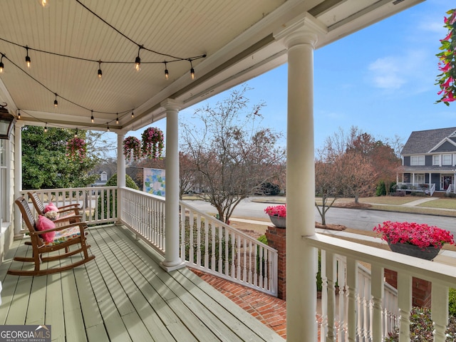
[[[447,11],[448,17],[445,17],[443,27],[448,28],[448,33],[445,38],[440,39],[440,50],[442,52],[437,53],[439,58],[439,71],[442,71],[440,75],[437,75],[438,86],[440,91],[437,93],[441,96],[435,103],[445,103],[450,105],[450,102],[456,100],[456,9],[450,9]]]

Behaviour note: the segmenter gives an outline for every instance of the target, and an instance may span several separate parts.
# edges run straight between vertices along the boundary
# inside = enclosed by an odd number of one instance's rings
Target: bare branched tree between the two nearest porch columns
[[[277,165],[284,165],[285,151],[276,147],[280,135],[259,128],[264,104],[254,105],[246,113],[247,90],[233,90],[214,108],[207,105],[196,110],[194,118],[201,120],[201,128],[181,123],[181,151],[195,165],[204,199],[224,222],[242,199],[260,192],[264,182],[277,177]]]

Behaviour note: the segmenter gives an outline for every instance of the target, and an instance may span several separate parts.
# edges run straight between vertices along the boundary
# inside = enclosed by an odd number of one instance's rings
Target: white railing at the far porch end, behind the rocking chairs
[[[80,204],[82,208],[81,215],[88,224],[117,221],[117,208],[115,205],[117,187],[23,190],[20,193],[28,199],[27,192],[36,192],[45,207],[51,202],[56,204],[57,207],[74,203]],[[33,214],[36,214],[31,202],[30,207]]]

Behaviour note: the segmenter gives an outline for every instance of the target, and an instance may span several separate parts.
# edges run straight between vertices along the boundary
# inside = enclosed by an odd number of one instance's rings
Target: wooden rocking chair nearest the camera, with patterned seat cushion
[[[26,199],[22,196],[16,199],[16,201],[14,202],[21,210],[22,218],[24,219],[24,222],[30,234],[31,247],[33,249],[33,257],[14,257],[14,260],[23,262],[33,262],[35,264],[35,268],[31,271],[21,269],[9,269],[8,274],[16,276],[41,276],[44,274],[52,274],[61,271],[66,271],[67,269],[72,269],[73,267],[80,266],[82,264],[85,264],[87,261],[95,259],[94,255],[89,256],[87,252],[87,249],[90,248],[90,246],[86,245],[87,237],[84,232],[84,229],[87,228],[87,225],[85,222],[79,221],[61,227],[56,227],[53,229],[38,231],[36,229],[36,220],[33,217],[30,207],[28,207],[28,202],[26,201]],[[49,232],[56,232],[56,235],[51,242],[45,242],[40,237],[40,235]],[[78,247],[78,249],[70,251],[68,247],[70,247],[73,244],[79,244],[80,247]],[[56,254],[51,257],[42,257],[42,254],[55,252],[60,249],[65,249],[65,253],[60,252],[60,254]],[[72,255],[81,252],[83,254],[83,259],[73,262],[73,264],[68,264],[61,267],[55,267],[50,269],[40,269],[42,262],[55,261],[58,259],[71,257]]]

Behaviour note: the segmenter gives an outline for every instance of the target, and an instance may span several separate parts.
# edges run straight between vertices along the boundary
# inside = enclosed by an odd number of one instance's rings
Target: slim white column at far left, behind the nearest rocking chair
[[[23,123],[17,122],[14,126],[14,199],[21,196],[22,191],[22,128]],[[22,216],[16,204],[14,207],[14,239],[22,239]]]

